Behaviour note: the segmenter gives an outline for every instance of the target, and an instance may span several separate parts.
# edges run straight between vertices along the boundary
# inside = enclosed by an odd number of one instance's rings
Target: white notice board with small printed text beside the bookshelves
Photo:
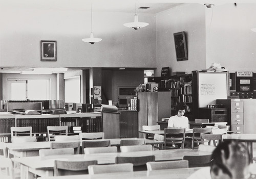
[[[198,73],[199,108],[227,99],[227,73]]]

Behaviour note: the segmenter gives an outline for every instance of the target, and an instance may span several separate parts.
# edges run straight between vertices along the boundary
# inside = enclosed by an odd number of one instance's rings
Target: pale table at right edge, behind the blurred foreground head
[[[248,147],[250,160],[252,163],[253,158],[253,142],[256,142],[256,134],[225,134],[222,135],[223,141],[225,140],[236,140],[238,142],[245,142]]]

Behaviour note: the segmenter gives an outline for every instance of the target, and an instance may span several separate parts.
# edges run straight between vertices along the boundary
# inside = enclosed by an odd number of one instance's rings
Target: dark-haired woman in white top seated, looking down
[[[188,129],[188,118],[183,116],[187,109],[187,105],[183,102],[176,106],[177,115],[172,116],[168,120],[168,127],[186,128]]]

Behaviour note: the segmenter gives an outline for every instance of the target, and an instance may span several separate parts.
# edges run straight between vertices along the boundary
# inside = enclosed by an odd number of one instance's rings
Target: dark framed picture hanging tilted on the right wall
[[[188,60],[185,32],[174,33],[174,44],[177,61]]]

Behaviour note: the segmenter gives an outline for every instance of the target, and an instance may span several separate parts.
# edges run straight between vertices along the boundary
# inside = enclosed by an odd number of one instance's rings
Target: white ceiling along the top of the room
[[[135,12],[138,13],[159,13],[173,8],[182,3],[199,4],[226,4],[226,3],[256,3],[255,0],[0,0],[0,6],[5,8],[25,8],[25,9],[53,9],[53,10],[74,10],[74,11],[104,11],[104,12]]]

